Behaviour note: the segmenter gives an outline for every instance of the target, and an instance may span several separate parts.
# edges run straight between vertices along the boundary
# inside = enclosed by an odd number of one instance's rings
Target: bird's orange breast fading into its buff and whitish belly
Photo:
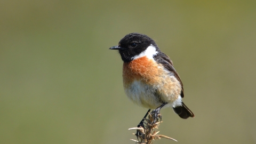
[[[181,92],[179,81],[161,64],[141,57],[123,64],[126,95],[138,105],[156,108],[161,102],[173,102]]]

